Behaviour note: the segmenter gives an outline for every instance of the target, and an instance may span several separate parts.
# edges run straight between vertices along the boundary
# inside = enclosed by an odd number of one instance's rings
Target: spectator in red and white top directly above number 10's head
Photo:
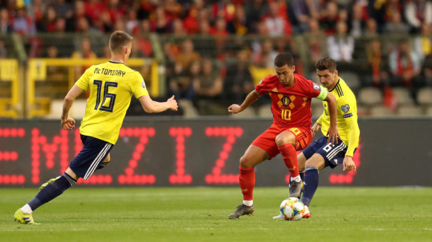
[[[263,17],[263,22],[267,26],[268,35],[270,36],[283,36],[291,35],[292,29],[291,24],[285,16],[281,16],[279,13],[283,6],[279,6],[279,3],[272,1],[269,3],[269,13]]]

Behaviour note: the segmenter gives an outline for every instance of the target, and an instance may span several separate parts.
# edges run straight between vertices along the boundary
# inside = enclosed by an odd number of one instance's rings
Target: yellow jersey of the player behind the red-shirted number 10
[[[346,155],[353,156],[355,148],[359,145],[360,129],[357,123],[357,101],[353,91],[339,77],[336,86],[329,92],[336,98],[337,129],[341,140],[348,146]],[[323,102],[324,111],[316,122],[322,125],[321,131],[327,135],[330,128],[330,115],[327,102]]]

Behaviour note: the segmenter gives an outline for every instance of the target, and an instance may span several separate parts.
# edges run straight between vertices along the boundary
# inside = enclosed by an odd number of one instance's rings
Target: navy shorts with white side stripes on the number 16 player
[[[70,162],[69,168],[79,177],[88,179],[99,164],[105,160],[114,145],[98,138],[83,135],[81,135],[81,141],[84,147]]]

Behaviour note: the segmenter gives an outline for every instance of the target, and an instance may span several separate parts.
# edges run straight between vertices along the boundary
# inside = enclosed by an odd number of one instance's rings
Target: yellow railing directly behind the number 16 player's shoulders
[[[45,81],[47,79],[47,67],[66,67],[67,68],[67,83],[68,90],[72,88],[75,81],[79,78],[75,74],[76,67],[88,67],[99,63],[108,61],[105,58],[33,58],[29,60],[27,70],[27,108],[26,117],[33,118],[37,116],[47,115],[49,113],[50,105],[52,102],[51,97],[36,97],[37,81]],[[150,91],[151,95],[157,97],[159,95],[159,79],[158,79],[158,64],[157,61],[150,58],[131,58],[126,63],[130,67],[143,67],[150,65]],[[148,80],[146,80],[148,82]]]

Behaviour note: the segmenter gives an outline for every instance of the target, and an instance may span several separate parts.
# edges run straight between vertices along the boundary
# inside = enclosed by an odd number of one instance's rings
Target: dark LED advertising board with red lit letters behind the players
[[[238,160],[271,120],[128,119],[111,163],[84,186],[238,186]],[[360,119],[357,172],[320,172],[324,186],[432,186],[431,119]],[[318,138],[318,137],[316,137]],[[56,177],[82,147],[59,121],[0,121],[0,187]],[[281,156],[256,166],[256,186],[285,186]]]

